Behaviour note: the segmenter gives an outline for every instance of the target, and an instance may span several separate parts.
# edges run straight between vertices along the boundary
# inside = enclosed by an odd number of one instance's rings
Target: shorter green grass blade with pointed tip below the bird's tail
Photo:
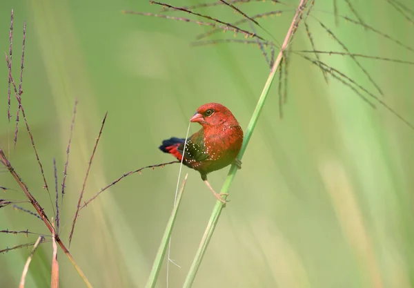
[[[150,276],[148,277],[148,281],[145,286],[146,288],[153,288],[157,284],[159,270],[161,270],[162,262],[164,261],[164,256],[166,256],[168,243],[170,242],[172,228],[174,227],[175,219],[177,218],[177,212],[178,212],[179,204],[181,203],[181,196],[183,195],[183,191],[186,186],[187,177],[188,177],[188,173],[186,174],[186,177],[184,177],[183,184],[177,195],[177,201],[175,202],[175,206],[172,209],[170,219],[168,220],[166,230],[164,231],[164,235],[162,236],[161,244],[159,245],[159,248],[157,251],[157,256],[155,256],[154,264],[152,264]]]

